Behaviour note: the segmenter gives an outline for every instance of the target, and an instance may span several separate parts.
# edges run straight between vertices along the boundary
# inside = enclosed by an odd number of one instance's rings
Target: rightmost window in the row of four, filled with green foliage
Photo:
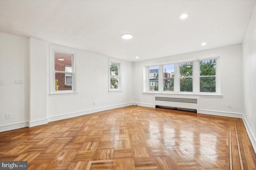
[[[200,92],[216,92],[216,59],[200,61]]]

